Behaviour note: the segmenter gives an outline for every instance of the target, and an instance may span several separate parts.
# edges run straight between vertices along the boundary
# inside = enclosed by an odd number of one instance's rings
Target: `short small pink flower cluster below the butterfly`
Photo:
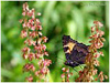
[[[62,70],[63,70],[63,74],[61,75],[62,82],[69,82],[69,77],[73,75],[73,73],[69,72],[68,68],[63,68]]]

